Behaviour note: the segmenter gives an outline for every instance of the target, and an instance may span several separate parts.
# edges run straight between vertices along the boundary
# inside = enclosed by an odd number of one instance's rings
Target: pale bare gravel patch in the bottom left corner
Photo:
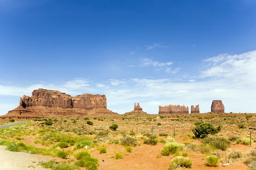
[[[11,152],[6,146],[0,146],[0,170],[50,170],[38,165],[40,161],[52,158],[25,152]]]

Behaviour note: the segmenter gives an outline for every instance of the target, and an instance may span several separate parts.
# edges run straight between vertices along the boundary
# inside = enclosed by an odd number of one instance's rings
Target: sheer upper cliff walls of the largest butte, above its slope
[[[69,94],[60,91],[52,91],[39,88],[32,92],[32,96],[24,95],[20,98],[20,106],[23,108],[29,106],[47,106],[59,108],[107,108],[105,95],[82,94],[71,97]]]

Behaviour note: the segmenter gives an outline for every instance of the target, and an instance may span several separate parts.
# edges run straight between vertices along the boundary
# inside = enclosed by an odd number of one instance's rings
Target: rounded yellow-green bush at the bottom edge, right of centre
[[[178,169],[179,167],[191,168],[192,164],[193,163],[189,158],[178,156],[172,159],[172,161],[170,162],[169,169],[175,170]]]

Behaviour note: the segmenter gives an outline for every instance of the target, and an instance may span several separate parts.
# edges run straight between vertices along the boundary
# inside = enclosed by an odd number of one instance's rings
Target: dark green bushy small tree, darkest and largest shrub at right
[[[218,126],[215,128],[212,123],[203,123],[203,122],[197,122],[195,123],[195,129],[191,129],[192,132],[195,134],[196,138],[205,138],[208,136],[208,134],[215,135],[221,130],[221,126]]]

